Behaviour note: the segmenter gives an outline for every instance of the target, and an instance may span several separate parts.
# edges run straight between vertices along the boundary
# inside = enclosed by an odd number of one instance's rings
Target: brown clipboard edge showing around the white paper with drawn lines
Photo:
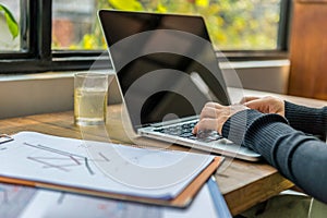
[[[7,135],[8,137],[8,135]],[[13,141],[13,137],[7,138],[9,143]],[[129,201],[129,202],[138,202],[144,204],[152,204],[152,205],[160,205],[160,206],[172,206],[172,207],[186,207],[191,204],[192,199],[195,197],[197,192],[201,187],[206,183],[206,181],[211,177],[211,174],[217,170],[217,168],[223,161],[223,157],[217,156],[214,157],[211,162],[207,165],[193,180],[190,182],[175,197],[173,198],[153,198],[153,197],[145,197],[145,196],[134,196],[134,195],[126,195],[113,192],[104,192],[98,191],[96,189],[85,189],[81,186],[74,185],[62,185],[58,183],[47,182],[47,181],[36,181],[26,178],[15,178],[15,177],[8,177],[1,174],[0,172],[0,182],[11,183],[11,184],[19,184],[19,185],[27,185],[34,187],[41,187],[48,190],[56,190],[62,192],[71,192],[75,194],[82,195],[90,195],[90,196],[98,196],[98,197],[106,197],[112,199],[121,199],[121,201]]]

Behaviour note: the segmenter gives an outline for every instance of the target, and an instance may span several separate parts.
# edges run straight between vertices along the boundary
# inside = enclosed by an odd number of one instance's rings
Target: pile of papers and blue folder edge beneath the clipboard
[[[5,201],[0,203],[0,217],[15,218],[231,218],[226,202],[213,177],[201,189],[187,208],[164,207],[102,197],[90,197],[44,189],[0,183]]]

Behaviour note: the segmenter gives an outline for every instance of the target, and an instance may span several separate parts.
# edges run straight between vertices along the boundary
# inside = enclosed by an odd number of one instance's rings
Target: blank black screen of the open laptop
[[[156,32],[177,31],[210,41],[201,16],[101,10],[99,19],[134,126],[199,114],[205,102],[210,100],[229,105],[211,45],[199,48],[192,37]],[[140,33],[147,33],[141,43],[114,47]],[[159,49],[143,53],[146,48],[154,47],[175,48],[179,52]],[[124,62],[131,52],[137,58]],[[199,62],[192,57],[204,58]],[[209,71],[207,64],[216,65],[215,71]],[[196,78],[201,82],[194,82]]]

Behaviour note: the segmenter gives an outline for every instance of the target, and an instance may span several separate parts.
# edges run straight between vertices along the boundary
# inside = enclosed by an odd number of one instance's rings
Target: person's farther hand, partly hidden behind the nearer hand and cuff
[[[263,113],[277,113],[284,117],[284,101],[277,97],[244,97],[241,104]]]

